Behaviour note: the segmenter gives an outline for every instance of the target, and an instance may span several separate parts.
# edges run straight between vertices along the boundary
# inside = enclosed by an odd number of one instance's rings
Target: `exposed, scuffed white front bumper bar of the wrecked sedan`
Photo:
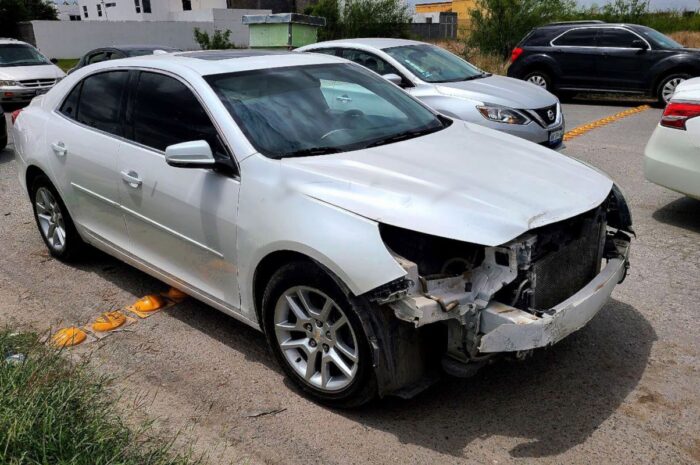
[[[515,352],[546,347],[584,327],[610,298],[627,272],[629,242],[616,244],[619,256],[583,289],[561,302],[551,314],[541,317],[499,302],[491,302],[482,312],[483,333],[479,352]]]

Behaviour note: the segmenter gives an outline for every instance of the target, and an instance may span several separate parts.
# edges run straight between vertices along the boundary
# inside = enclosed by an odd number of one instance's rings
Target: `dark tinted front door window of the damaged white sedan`
[[[133,139],[165,151],[169,145],[205,140],[217,158],[228,158],[216,128],[192,91],[177,79],[141,73],[134,96]]]

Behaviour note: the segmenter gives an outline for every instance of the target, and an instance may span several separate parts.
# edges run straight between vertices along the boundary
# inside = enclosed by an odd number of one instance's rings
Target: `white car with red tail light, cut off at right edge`
[[[700,199],[700,78],[676,87],[644,151],[644,175]]]

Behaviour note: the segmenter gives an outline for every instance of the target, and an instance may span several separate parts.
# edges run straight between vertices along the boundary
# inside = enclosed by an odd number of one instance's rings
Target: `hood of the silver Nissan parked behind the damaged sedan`
[[[529,82],[505,76],[436,84],[439,93],[523,110],[554,105],[557,98]]]

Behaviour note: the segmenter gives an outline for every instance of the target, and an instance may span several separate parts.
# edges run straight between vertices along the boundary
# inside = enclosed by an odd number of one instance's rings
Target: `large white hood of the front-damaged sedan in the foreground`
[[[613,184],[553,150],[461,121],[407,141],[281,163],[290,187],[317,201],[487,246],[591,210]]]

